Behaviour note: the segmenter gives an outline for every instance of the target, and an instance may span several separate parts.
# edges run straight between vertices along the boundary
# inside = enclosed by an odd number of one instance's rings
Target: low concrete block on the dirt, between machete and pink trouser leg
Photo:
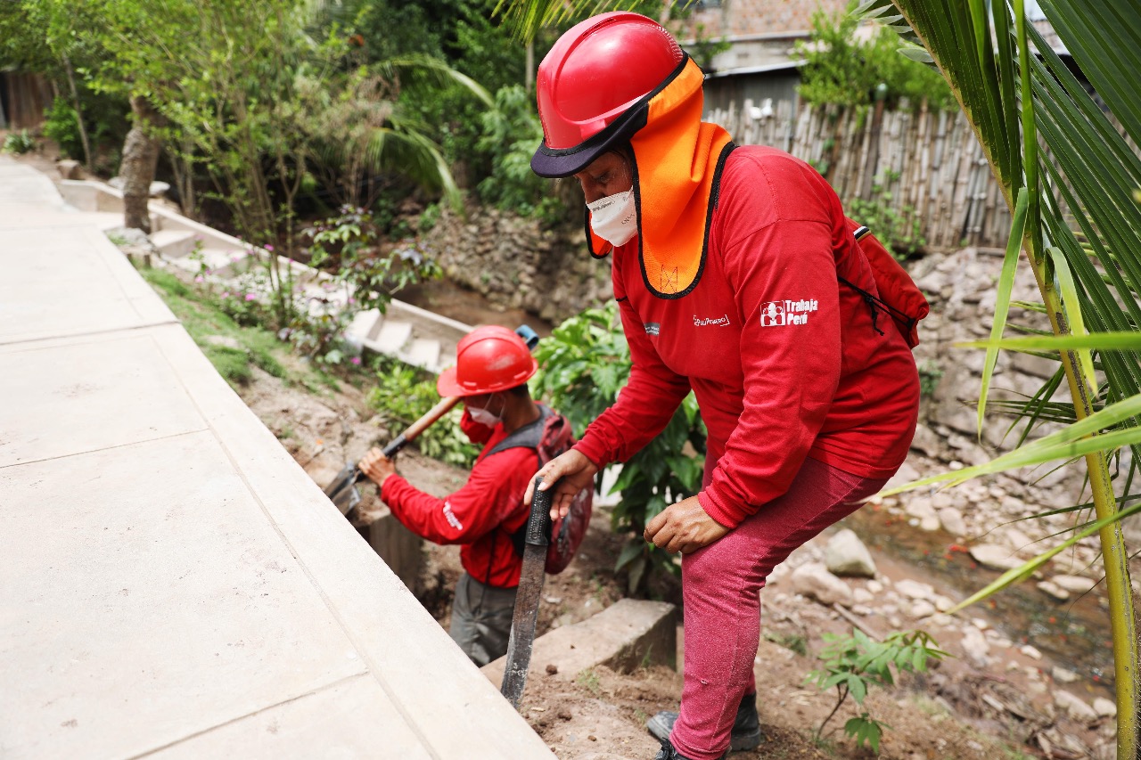
[[[606,665],[628,673],[646,665],[678,665],[678,608],[665,601],[622,599],[592,617],[564,625],[535,639],[527,681],[575,680],[584,670]],[[507,657],[480,670],[493,684],[503,682]]]

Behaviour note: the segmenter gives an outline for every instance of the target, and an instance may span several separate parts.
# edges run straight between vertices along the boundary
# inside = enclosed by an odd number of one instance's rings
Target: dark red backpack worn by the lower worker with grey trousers
[[[561,414],[539,405],[539,419],[523,426],[511,432],[507,438],[495,444],[487,452],[487,455],[497,454],[507,448],[533,448],[539,454],[539,466],[542,467],[575,444],[574,432],[570,422]],[[566,569],[574,552],[578,550],[586,535],[586,526],[590,525],[590,511],[594,501],[594,490],[583,488],[574,501],[570,502],[570,511],[566,517],[555,520],[547,526],[551,531],[548,536],[550,543],[547,544],[545,569],[550,574],[561,573]],[[511,543],[516,552],[521,557],[524,537],[527,533],[527,522],[524,520],[518,531],[511,534]]]

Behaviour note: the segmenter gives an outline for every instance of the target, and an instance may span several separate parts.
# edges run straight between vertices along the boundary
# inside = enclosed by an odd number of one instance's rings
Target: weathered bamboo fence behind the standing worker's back
[[[982,148],[961,113],[730,105],[705,114],[738,145],[772,145],[815,165],[842,201],[890,193],[905,219],[919,219],[929,250],[1003,248],[1010,211]],[[881,199],[883,195],[881,194]],[[859,221],[859,220],[857,220]],[[874,232],[874,231],[873,231]]]

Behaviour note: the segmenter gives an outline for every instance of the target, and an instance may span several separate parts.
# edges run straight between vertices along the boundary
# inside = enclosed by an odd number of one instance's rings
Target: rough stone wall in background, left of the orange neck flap
[[[609,262],[591,258],[581,228],[472,205],[467,218],[444,209],[422,243],[452,282],[556,324],[614,294]]]

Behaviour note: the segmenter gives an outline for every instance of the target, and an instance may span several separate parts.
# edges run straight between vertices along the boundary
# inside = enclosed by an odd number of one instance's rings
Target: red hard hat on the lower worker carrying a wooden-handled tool
[[[535,362],[523,338],[500,325],[476,328],[455,349],[455,366],[436,380],[440,396],[478,396],[520,386],[535,374]]]

